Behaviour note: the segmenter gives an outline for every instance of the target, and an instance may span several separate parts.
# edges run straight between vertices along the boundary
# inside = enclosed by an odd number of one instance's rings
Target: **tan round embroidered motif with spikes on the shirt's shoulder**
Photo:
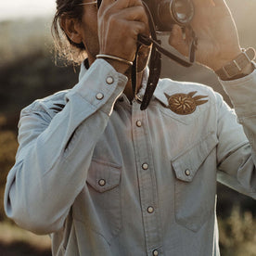
[[[168,99],[168,108],[178,115],[189,115],[193,113],[198,105],[202,105],[208,100],[200,100],[207,96],[194,96],[197,92],[191,92],[189,94],[176,94],[168,96],[164,94]]]

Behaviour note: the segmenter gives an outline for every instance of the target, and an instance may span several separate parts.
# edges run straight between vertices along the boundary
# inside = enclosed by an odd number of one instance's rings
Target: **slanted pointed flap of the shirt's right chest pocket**
[[[211,150],[218,144],[216,134],[207,134],[198,144],[186,149],[184,153],[172,160],[176,178],[191,182],[200,165],[206,160]]]

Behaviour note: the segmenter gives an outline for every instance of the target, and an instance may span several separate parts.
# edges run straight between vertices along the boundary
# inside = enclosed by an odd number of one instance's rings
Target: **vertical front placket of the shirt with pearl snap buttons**
[[[134,101],[132,112],[134,153],[147,255],[163,255],[160,239],[160,211],[146,111]]]

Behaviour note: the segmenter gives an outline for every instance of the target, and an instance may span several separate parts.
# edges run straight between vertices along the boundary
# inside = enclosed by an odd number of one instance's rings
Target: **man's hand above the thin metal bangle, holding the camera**
[[[147,15],[141,0],[103,0],[97,20],[99,54],[133,61],[137,35],[148,33]],[[126,65],[116,60],[108,61],[115,62],[115,68]]]

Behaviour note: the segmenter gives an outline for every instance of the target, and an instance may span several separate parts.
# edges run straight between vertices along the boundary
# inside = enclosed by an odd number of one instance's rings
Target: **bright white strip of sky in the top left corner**
[[[0,21],[50,16],[54,11],[55,0],[0,0]]]

